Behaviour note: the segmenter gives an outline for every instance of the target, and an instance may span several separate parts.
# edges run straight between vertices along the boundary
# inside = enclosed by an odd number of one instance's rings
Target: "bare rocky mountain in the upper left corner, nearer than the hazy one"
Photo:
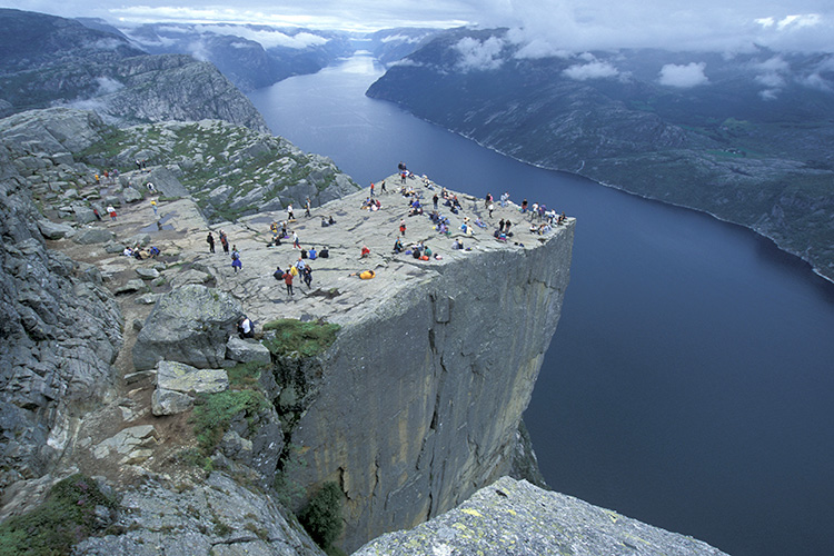
[[[210,63],[148,56],[122,36],[42,13],[0,9],[0,116],[71,106],[113,123],[215,118],[268,130]]]

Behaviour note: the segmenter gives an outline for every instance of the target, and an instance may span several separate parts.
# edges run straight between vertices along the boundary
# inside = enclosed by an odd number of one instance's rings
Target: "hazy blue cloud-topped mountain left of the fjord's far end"
[[[149,23],[119,29],[150,53],[209,61],[244,91],[315,73],[354,49],[346,33],[268,26]]]

